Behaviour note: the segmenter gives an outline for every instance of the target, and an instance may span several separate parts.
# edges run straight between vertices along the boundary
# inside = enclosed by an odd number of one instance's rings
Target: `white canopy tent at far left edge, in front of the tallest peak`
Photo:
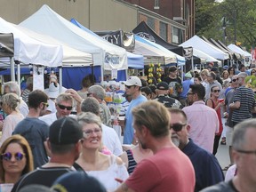
[[[12,33],[14,38],[13,60],[21,64],[35,64],[48,67],[62,65],[63,50],[57,44],[44,44],[15,28],[12,23],[0,18],[0,33]],[[1,58],[1,63],[11,65],[12,81],[15,81],[14,62],[9,58]],[[18,83],[20,79],[18,78]]]

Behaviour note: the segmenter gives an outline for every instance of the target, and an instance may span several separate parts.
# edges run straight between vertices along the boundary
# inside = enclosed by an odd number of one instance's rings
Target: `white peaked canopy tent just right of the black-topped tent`
[[[212,56],[213,58],[215,58],[217,60],[228,60],[228,58],[229,58],[228,53],[222,52],[220,49],[213,46],[212,44],[205,42],[199,36],[191,37],[183,44],[180,44],[180,46],[183,46],[183,47],[191,46],[201,52],[205,52],[206,54]]]

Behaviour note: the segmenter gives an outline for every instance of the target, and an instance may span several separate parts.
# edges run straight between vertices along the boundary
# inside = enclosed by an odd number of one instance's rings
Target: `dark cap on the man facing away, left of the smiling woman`
[[[65,116],[50,126],[49,140],[55,145],[75,144],[83,138],[82,125],[76,119]]]

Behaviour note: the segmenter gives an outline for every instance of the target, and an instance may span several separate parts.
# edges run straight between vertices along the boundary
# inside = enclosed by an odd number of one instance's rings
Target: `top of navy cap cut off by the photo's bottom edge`
[[[103,187],[99,180],[81,171],[68,172],[61,175],[54,181],[52,189],[68,192],[107,192],[106,188]]]

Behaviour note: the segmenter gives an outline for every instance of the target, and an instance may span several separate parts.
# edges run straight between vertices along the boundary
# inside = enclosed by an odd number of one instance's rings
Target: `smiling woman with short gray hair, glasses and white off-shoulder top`
[[[117,180],[126,180],[129,175],[121,158],[100,152],[102,146],[100,116],[83,112],[77,116],[77,121],[83,126],[84,138],[81,140],[82,153],[74,167],[77,170],[82,168],[88,175],[100,180],[108,191],[114,191],[120,185]]]

